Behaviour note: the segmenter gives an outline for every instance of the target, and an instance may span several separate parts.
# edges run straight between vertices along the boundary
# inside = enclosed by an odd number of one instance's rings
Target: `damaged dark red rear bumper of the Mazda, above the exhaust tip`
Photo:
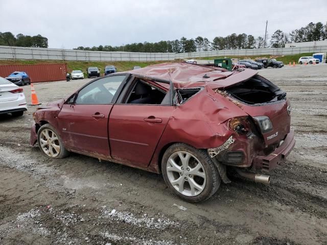
[[[294,130],[291,130],[286,136],[284,142],[272,153],[267,156],[256,156],[253,159],[253,168],[262,168],[263,171],[269,171],[275,168],[283,159],[285,159],[293,150],[295,145]]]

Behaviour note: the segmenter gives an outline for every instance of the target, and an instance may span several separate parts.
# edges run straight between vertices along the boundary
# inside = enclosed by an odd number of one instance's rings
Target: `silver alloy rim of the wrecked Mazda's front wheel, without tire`
[[[43,129],[40,133],[39,144],[41,146],[42,151],[50,156],[56,157],[60,153],[60,142],[59,138],[55,132],[51,129]]]

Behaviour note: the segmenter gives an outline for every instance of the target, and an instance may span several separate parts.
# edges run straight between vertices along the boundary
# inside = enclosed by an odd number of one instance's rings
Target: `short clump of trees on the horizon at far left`
[[[29,36],[17,34],[14,36],[11,32],[0,32],[0,45],[18,46],[18,47],[48,47],[48,38],[41,36]]]

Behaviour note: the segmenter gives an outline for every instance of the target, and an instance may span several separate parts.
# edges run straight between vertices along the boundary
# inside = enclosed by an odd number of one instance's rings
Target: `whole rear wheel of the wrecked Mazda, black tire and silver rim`
[[[207,200],[221,183],[217,167],[208,153],[184,143],[173,144],[166,150],[161,170],[167,186],[191,203]]]

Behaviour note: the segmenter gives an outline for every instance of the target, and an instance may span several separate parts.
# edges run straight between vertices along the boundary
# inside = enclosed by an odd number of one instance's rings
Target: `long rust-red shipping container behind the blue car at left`
[[[66,64],[0,65],[0,77],[8,77],[14,71],[25,71],[32,83],[66,79]]]

